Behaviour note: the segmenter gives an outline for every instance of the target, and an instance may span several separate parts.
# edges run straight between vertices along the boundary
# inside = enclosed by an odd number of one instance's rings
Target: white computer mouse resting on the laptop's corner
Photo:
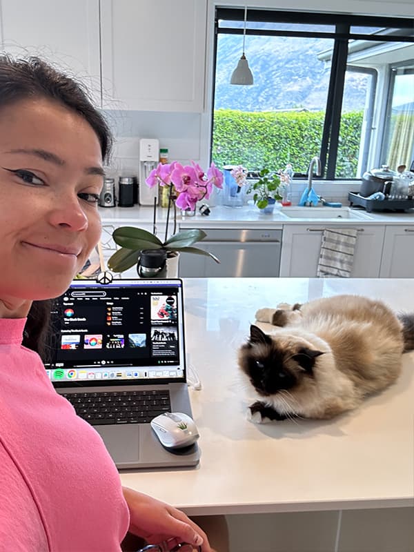
[[[167,449],[181,449],[197,441],[199,433],[193,418],[182,412],[165,412],[150,422],[155,435]]]

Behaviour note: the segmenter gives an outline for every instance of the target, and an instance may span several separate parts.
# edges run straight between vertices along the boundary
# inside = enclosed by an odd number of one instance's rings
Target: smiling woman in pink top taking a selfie
[[[184,513],[121,488],[99,435],[55,393],[34,352],[45,301],[68,288],[100,237],[110,144],[72,79],[39,59],[0,58],[1,552],[115,552],[128,529],[211,550]]]

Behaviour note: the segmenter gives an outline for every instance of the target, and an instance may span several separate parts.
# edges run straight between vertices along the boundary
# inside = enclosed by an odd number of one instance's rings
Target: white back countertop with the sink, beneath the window
[[[345,206],[345,204],[344,204]],[[198,211],[194,217],[181,217],[181,212],[177,211],[177,224],[181,228],[274,228],[275,230],[282,228],[285,224],[332,224],[343,226],[348,224],[396,224],[406,225],[414,224],[414,209],[406,213],[382,213],[374,211],[366,213],[362,208],[351,209],[355,212],[358,218],[355,219],[332,219],[315,217],[315,212],[322,211],[324,215],[325,207],[284,207],[275,209],[273,215],[262,215],[255,205],[245,205],[240,208],[215,206],[210,208],[210,215],[201,215]],[[285,213],[291,213],[292,210],[300,210],[303,217],[290,218]],[[333,215],[337,210],[330,209]],[[153,219],[152,207],[115,207],[115,208],[99,208],[103,224],[114,224],[115,226],[132,225],[139,226],[140,224],[151,224]],[[311,216],[313,215],[313,216]],[[157,224],[165,224],[167,216],[166,208],[157,208]],[[170,213],[170,228],[172,228],[172,213]]]

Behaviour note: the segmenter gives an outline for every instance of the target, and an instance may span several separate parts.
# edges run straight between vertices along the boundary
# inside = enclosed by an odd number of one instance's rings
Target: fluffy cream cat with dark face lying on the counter
[[[250,326],[239,348],[239,367],[259,395],[248,410],[256,423],[351,411],[395,382],[402,353],[414,348],[414,315],[358,295],[261,308],[256,319],[275,326]]]

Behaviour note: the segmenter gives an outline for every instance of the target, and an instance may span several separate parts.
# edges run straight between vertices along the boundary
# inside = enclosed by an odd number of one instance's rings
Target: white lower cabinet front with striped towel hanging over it
[[[364,224],[346,228],[358,230],[351,277],[379,277],[384,226]],[[323,230],[324,226],[320,224],[284,225],[280,276],[316,276]]]

